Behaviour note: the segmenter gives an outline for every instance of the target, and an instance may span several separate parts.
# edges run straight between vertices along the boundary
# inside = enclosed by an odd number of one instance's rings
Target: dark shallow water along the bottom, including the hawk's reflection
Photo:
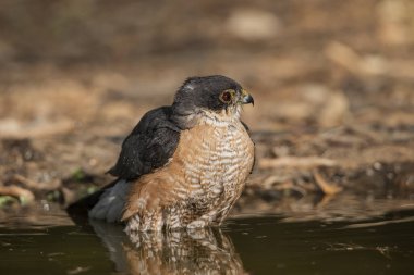
[[[61,217],[60,217],[61,218]],[[355,222],[229,220],[220,229],[0,227],[0,274],[414,274],[414,210]]]

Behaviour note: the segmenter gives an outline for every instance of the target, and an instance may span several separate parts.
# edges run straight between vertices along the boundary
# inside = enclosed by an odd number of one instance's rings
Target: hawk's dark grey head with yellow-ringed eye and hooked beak
[[[253,97],[233,79],[212,75],[190,77],[178,90],[172,104],[174,114],[184,116],[211,115],[240,118],[243,104],[254,104]]]

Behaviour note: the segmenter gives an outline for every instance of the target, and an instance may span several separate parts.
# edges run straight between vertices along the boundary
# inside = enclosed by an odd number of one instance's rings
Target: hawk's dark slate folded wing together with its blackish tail
[[[181,132],[169,120],[170,116],[170,107],[151,110],[143,116],[123,141],[117,164],[108,171],[118,179],[101,190],[72,203],[66,209],[75,222],[82,222],[87,216],[88,211],[98,205],[102,199],[113,200],[119,196],[122,197],[122,193],[117,193],[120,189],[117,189],[117,186],[122,185],[121,183],[124,183],[123,186],[125,186],[125,183],[150,173],[168,162],[175,151]],[[113,212],[113,209],[117,210],[117,203],[108,203],[108,201],[102,200],[96,212],[104,211],[100,214],[108,216],[109,213]]]

